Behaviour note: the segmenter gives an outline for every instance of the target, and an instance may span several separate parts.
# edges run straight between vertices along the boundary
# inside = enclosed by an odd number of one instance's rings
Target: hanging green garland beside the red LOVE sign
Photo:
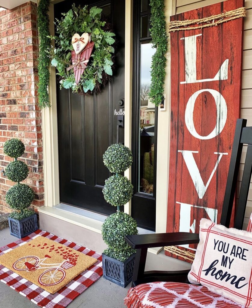
[[[160,105],[164,96],[164,80],[167,53],[167,33],[164,15],[164,0],[150,0],[151,6],[151,37],[156,48],[151,63],[151,87],[149,98],[156,106]]]

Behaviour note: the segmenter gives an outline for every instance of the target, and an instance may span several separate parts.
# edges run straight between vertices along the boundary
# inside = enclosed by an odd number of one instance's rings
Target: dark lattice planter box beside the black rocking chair
[[[103,278],[125,288],[132,280],[135,256],[134,253],[122,262],[102,254]]]

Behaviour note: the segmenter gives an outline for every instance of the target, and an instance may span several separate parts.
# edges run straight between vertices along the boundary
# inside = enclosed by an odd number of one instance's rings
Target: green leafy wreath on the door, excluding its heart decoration
[[[63,13],[60,20],[56,19],[56,35],[51,36],[56,45],[52,51],[51,64],[57,68],[61,87],[71,88],[73,92],[81,94],[100,91],[101,85],[105,85],[109,75],[112,75],[114,47],[111,45],[115,42],[113,38],[115,34],[109,30],[106,22],[101,20],[101,12],[102,9],[97,6],[88,10],[88,6],[81,8],[73,4],[72,9]],[[73,69],[67,71],[67,68],[72,65],[71,40],[75,33],[84,32],[90,34],[94,42],[94,50],[88,67],[76,84]]]

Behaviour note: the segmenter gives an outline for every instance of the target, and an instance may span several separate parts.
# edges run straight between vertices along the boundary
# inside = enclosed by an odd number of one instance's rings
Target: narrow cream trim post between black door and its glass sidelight
[[[124,84],[124,144],[131,149],[132,128],[132,59],[133,59],[133,0],[125,1],[125,84]],[[124,172],[131,179],[131,167]],[[124,205],[124,212],[131,215],[131,202]]]

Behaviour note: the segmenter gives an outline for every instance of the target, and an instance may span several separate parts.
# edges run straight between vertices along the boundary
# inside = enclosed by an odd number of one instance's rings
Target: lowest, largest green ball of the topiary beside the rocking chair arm
[[[126,235],[138,234],[137,223],[124,212],[111,214],[101,227],[103,241],[114,250],[129,249],[125,242]]]

